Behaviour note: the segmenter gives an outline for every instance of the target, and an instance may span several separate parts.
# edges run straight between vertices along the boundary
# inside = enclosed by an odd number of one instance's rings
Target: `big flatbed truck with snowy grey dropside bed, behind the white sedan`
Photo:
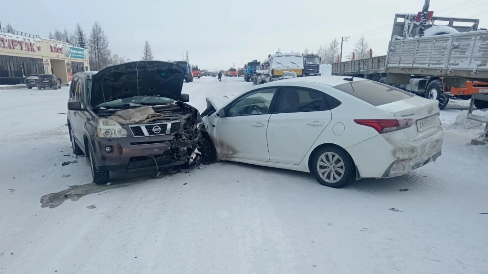
[[[395,14],[387,54],[332,64],[332,75],[386,83],[447,106],[449,98],[488,94],[488,32],[479,20]],[[469,69],[467,69],[469,68]],[[474,105],[486,108],[486,101]]]

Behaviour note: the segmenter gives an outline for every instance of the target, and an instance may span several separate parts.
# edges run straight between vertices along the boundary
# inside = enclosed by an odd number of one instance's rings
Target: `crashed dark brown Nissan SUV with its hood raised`
[[[93,182],[109,172],[191,167],[202,159],[198,110],[182,94],[184,69],[174,62],[134,61],[71,82],[68,129],[75,155],[86,155]]]

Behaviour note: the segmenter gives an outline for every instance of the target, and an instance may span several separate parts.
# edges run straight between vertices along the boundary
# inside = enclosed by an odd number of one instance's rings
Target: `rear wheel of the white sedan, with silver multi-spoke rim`
[[[352,180],[355,168],[352,158],[344,150],[325,146],[313,154],[310,172],[321,185],[342,188]]]

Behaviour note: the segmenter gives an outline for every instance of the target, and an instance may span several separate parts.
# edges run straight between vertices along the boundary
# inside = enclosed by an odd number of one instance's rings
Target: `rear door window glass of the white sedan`
[[[278,103],[278,113],[328,110],[324,94],[319,91],[285,87]]]

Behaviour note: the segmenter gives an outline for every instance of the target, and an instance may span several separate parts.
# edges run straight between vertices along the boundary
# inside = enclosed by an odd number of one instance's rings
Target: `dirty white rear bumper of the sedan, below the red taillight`
[[[363,178],[385,178],[408,172],[435,161],[442,153],[444,130],[416,141],[400,131],[367,139],[346,148]]]

